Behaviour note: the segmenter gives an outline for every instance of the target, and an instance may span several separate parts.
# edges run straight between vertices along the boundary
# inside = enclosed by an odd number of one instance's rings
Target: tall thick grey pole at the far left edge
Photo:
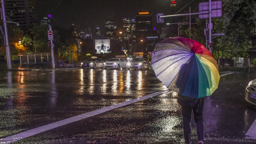
[[[7,60],[7,68],[11,69],[11,52],[10,52],[10,46],[8,41],[8,32],[7,32],[7,21],[6,21],[6,12],[4,7],[4,0],[1,0],[1,14],[2,14],[2,20],[4,23],[4,44],[6,45],[6,60]]]

